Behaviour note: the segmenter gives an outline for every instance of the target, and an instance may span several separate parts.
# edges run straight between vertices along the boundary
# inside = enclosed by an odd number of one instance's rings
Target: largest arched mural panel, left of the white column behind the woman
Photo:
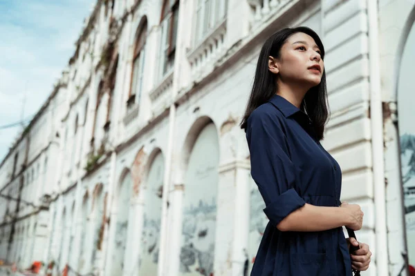
[[[214,124],[196,139],[185,175],[180,273],[212,276],[219,181],[219,141]]]

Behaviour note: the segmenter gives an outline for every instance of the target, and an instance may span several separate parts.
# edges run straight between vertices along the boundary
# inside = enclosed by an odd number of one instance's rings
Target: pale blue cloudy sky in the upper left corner
[[[0,160],[75,51],[84,18],[96,0],[0,0]],[[24,105],[24,95],[26,104]]]

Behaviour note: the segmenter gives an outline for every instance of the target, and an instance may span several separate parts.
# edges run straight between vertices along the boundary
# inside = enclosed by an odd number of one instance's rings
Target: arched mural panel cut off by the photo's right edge
[[[405,224],[409,265],[415,267],[415,24],[405,43],[398,77],[398,115],[400,165],[405,206]]]

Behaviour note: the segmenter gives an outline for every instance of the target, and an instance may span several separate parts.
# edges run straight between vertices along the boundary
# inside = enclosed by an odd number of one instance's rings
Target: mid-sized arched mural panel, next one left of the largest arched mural
[[[147,177],[141,252],[138,259],[139,275],[157,275],[163,179],[164,159],[159,152],[151,164]]]

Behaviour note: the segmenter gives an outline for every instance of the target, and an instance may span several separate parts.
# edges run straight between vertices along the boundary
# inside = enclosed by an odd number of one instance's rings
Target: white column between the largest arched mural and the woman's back
[[[219,165],[215,273],[243,275],[244,265],[248,258],[249,172],[250,162],[245,159],[233,159]]]

